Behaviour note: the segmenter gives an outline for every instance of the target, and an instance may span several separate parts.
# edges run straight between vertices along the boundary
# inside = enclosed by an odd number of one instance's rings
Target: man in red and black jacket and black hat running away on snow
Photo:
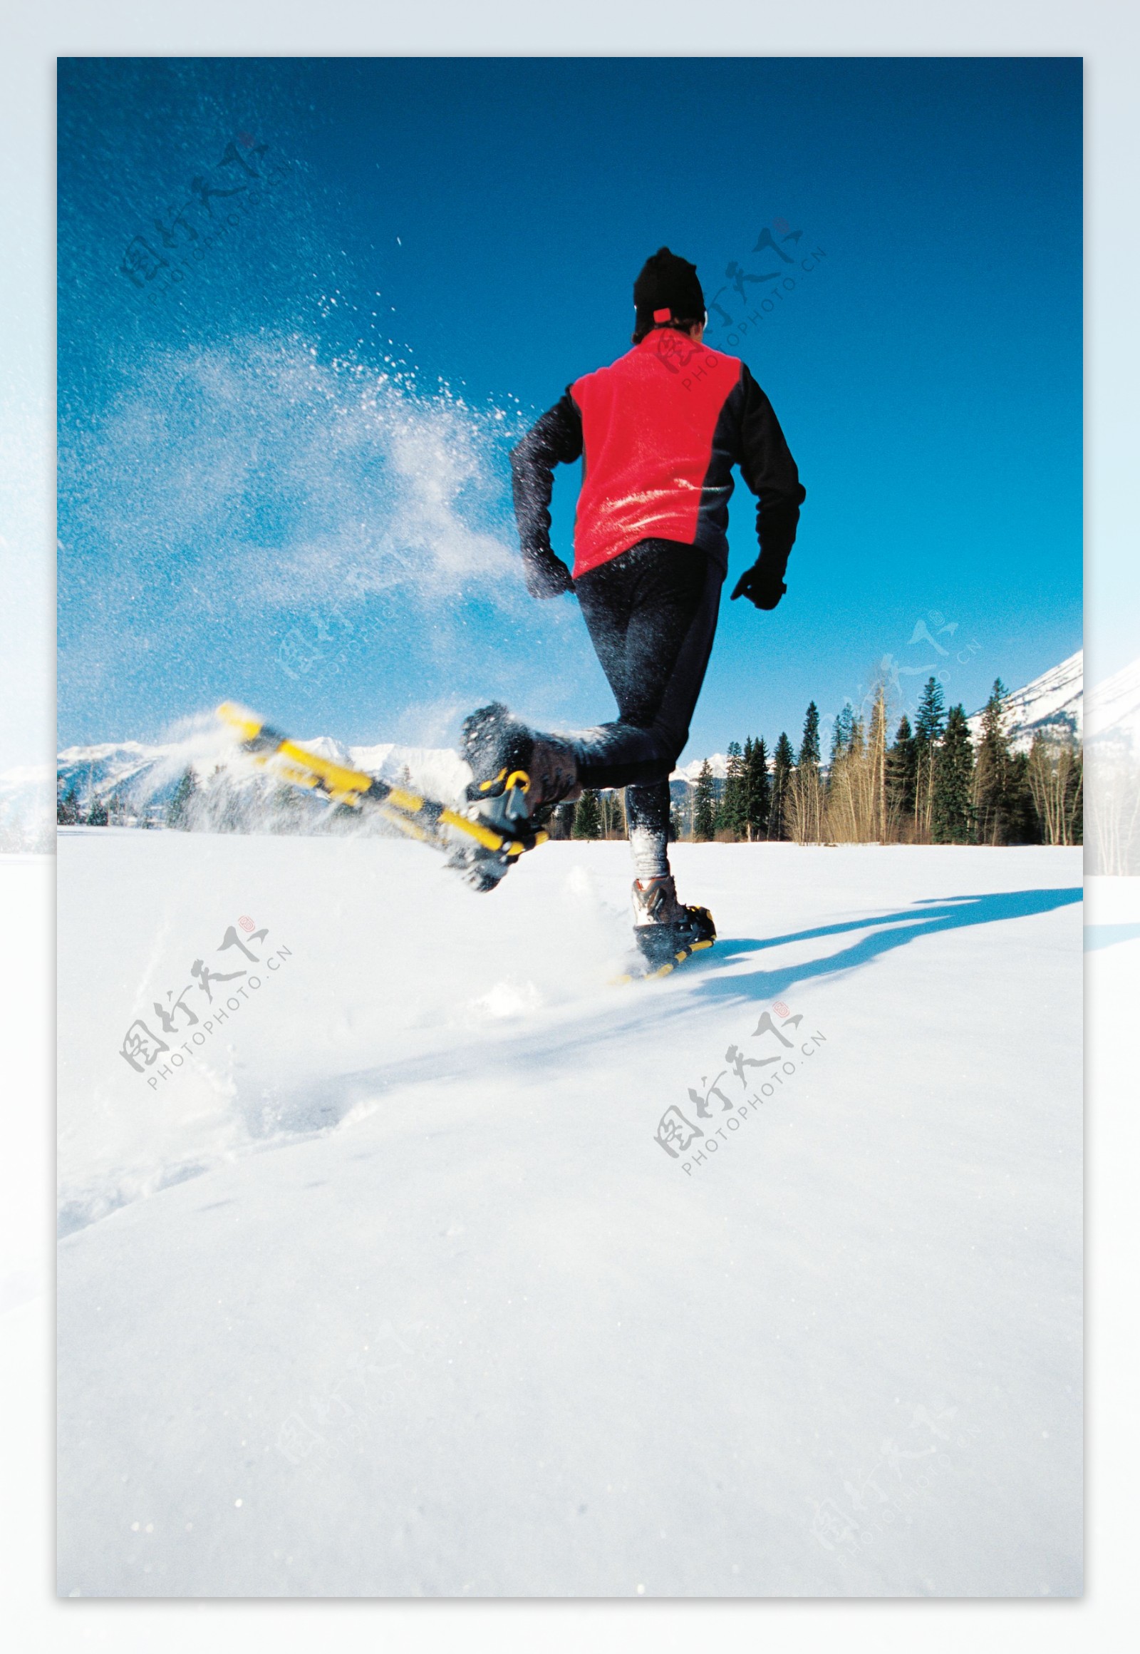
[[[539,734],[494,703],[464,723],[469,799],[491,824],[542,822],[582,787],[625,787],[643,951],[712,939],[669,872],[669,774],[689,739],[729,567],[732,466],[758,500],[757,562],[732,592],[775,609],[805,491],[743,362],[702,344],[696,266],[663,246],[633,288],[633,351],[567,389],[511,455],[532,597],[575,592],[618,721]],[[573,574],[550,547],[553,466],[583,460]],[[477,882],[477,880],[476,880]],[[489,888],[492,880],[484,882]]]

